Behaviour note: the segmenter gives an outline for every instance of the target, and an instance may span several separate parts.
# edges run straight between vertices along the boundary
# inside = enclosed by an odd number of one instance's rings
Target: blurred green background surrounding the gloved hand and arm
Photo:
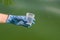
[[[59,0],[0,0],[0,13],[36,15],[36,24],[24,28],[13,24],[0,24],[0,40],[60,40]]]

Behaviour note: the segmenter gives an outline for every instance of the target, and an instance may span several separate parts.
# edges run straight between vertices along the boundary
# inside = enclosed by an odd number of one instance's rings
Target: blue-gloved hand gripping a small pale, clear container
[[[28,14],[28,13],[27,13]],[[28,14],[28,16],[15,16],[15,15],[9,15],[7,19],[7,23],[12,23],[15,25],[20,25],[24,27],[30,28],[32,24],[35,24],[35,18],[30,15],[31,13]]]

